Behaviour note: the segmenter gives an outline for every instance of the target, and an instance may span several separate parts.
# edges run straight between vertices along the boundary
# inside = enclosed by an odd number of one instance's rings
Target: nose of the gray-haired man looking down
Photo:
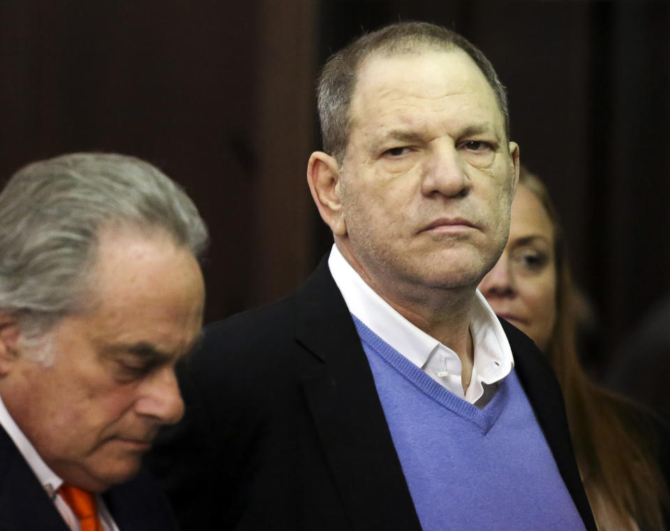
[[[184,415],[174,367],[166,366],[150,374],[140,388],[140,398],[135,402],[135,412],[149,416],[161,424],[174,424]]]

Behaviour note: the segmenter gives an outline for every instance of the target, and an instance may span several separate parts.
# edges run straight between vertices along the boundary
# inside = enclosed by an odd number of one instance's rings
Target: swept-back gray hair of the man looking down
[[[24,335],[85,309],[107,227],[163,231],[195,257],[208,242],[193,201],[134,157],[68,154],[11,177],[0,194],[0,310],[20,319]]]

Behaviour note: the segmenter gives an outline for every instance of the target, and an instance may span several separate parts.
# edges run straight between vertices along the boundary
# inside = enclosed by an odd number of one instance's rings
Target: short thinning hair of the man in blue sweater
[[[489,59],[455,31],[428,22],[399,22],[365,34],[333,54],[322,69],[318,89],[318,110],[323,150],[342,163],[351,133],[351,101],[359,69],[373,54],[394,56],[424,49],[460,49],[475,61],[496,94],[509,139],[507,93]]]

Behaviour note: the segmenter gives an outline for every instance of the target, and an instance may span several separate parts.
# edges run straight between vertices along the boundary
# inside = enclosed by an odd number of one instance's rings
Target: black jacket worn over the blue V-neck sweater
[[[595,530],[556,378],[528,337],[503,326],[560,473]],[[421,529],[325,260],[295,295],[210,326],[180,384],[184,421],[159,435],[147,465],[185,530]]]

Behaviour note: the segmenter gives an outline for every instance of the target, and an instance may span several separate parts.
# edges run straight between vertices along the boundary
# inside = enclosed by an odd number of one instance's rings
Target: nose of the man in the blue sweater
[[[424,165],[422,192],[425,196],[466,196],[471,182],[466,163],[451,140],[435,142]]]

